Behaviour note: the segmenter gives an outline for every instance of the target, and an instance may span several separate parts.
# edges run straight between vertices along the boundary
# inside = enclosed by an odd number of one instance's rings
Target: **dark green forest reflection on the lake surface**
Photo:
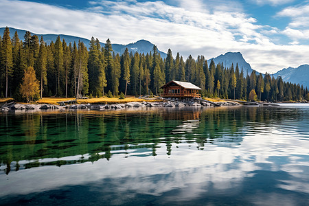
[[[277,112],[274,112],[276,110]],[[69,165],[111,159],[113,154],[146,150],[157,155],[165,144],[167,155],[178,144],[241,144],[247,130],[264,134],[271,125],[297,119],[301,112],[286,108],[221,107],[164,108],[120,113],[1,113],[1,170],[45,165]],[[174,146],[174,147],[173,147]],[[6,165],[3,167],[3,165]]]

